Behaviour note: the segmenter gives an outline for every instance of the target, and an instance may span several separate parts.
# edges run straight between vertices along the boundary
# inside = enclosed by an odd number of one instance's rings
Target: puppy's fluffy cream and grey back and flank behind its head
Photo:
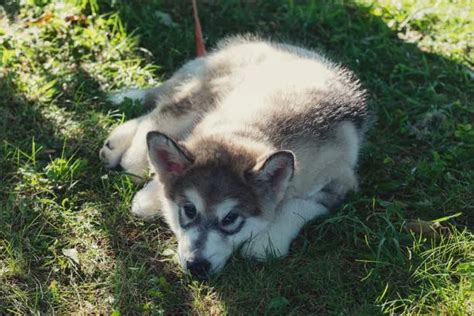
[[[368,111],[349,71],[306,49],[238,37],[207,57],[203,77],[215,93],[193,138],[242,135],[268,151],[293,151],[296,195],[320,190],[336,174],[346,179],[342,191],[356,188],[352,169]]]

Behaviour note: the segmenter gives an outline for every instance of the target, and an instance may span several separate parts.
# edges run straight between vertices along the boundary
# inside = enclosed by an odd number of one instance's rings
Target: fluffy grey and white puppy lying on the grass
[[[236,249],[287,255],[305,223],[357,189],[366,95],[319,53],[230,37],[157,88],[115,95],[152,110],[113,130],[100,158],[138,177],[152,170],[132,212],[163,216],[183,269],[205,278]]]

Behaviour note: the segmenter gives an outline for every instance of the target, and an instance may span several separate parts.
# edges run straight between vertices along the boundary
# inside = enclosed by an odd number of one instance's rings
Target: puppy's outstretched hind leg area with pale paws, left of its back
[[[212,104],[210,95],[202,89],[204,59],[196,59],[183,66],[173,77],[158,88],[128,90],[118,93],[114,101],[125,97],[141,99],[153,110],[137,119],[118,126],[100,150],[100,158],[108,168],[121,167],[136,175],[140,181],[149,168],[146,134],[158,130],[180,139],[197,124],[205,109]]]

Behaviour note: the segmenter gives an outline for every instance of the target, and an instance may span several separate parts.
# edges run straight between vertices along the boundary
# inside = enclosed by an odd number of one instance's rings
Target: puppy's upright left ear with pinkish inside
[[[163,133],[149,132],[146,141],[150,161],[162,180],[182,175],[193,163],[191,154]]]

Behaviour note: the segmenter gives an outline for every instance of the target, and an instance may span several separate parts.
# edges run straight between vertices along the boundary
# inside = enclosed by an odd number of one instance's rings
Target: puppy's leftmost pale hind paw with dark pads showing
[[[137,130],[138,120],[128,121],[115,128],[99,151],[99,157],[107,168],[120,166],[125,151],[130,147]]]

